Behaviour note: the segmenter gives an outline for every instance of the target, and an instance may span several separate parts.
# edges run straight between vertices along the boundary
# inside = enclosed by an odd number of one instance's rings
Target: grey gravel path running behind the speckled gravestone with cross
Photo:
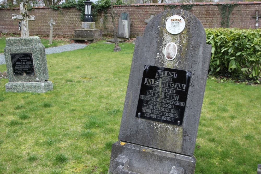
[[[52,53],[59,53],[63,51],[72,51],[72,50],[77,50],[80,48],[86,47],[86,44],[67,44],[67,45],[62,45],[62,46],[55,46],[51,48],[46,48],[45,53],[46,54],[52,54]],[[0,53],[0,65],[5,64],[5,59],[4,59],[4,53]]]

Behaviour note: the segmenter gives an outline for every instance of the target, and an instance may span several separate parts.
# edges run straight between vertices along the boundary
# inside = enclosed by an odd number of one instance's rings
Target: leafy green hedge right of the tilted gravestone
[[[209,74],[260,83],[261,30],[238,28],[205,29],[212,45]]]

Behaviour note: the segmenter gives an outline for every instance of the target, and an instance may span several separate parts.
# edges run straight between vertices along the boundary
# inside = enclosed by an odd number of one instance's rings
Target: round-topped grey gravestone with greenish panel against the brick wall
[[[118,21],[118,38],[127,38],[130,37],[131,21],[128,12],[122,12]]]

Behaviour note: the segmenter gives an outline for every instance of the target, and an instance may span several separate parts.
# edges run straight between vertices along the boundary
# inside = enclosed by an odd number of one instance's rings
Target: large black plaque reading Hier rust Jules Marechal
[[[145,65],[136,117],[182,125],[191,71]]]

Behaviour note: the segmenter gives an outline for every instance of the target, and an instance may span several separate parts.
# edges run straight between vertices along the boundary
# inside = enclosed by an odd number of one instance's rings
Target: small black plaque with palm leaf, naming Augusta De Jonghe
[[[10,53],[15,76],[34,75],[32,53]]]

